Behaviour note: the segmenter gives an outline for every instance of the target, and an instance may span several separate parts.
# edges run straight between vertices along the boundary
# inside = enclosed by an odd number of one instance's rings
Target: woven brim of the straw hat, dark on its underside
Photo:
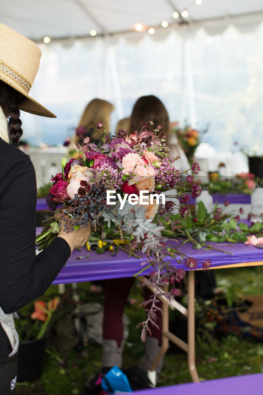
[[[8,76],[0,73],[0,79],[23,95],[23,100],[19,105],[19,109],[26,111],[27,113],[40,115],[41,117],[56,118],[56,115],[51,113],[51,111],[38,103],[36,100],[32,99],[23,88],[21,88],[15,81],[12,81]]]

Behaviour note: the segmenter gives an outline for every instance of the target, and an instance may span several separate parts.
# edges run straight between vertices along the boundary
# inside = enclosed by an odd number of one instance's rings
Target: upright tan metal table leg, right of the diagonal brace
[[[188,368],[193,382],[199,382],[195,367],[195,272],[188,272]]]

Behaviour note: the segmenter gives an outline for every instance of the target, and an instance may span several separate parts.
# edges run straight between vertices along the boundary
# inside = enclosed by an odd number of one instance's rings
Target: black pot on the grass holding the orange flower
[[[19,343],[17,382],[38,380],[44,367],[45,338]]]

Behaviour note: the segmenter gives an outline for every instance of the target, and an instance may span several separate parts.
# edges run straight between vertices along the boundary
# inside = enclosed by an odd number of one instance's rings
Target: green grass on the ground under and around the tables
[[[225,288],[228,296],[235,299],[238,295],[263,294],[263,267],[220,269],[216,270],[216,280],[220,287]],[[88,283],[80,283],[78,287],[82,301],[103,302],[102,295],[88,292]],[[57,292],[56,286],[51,286],[46,295]],[[145,316],[143,308],[138,308],[143,300],[141,290],[136,284],[131,290],[131,297],[136,297],[136,305],[127,306],[126,314],[131,320],[130,337],[125,344],[123,360],[124,367],[135,365],[143,356],[144,346],[140,340],[140,330],[136,325]],[[41,384],[48,395],[81,394],[84,388],[83,374],[89,377],[96,374],[101,367],[101,347],[89,344],[84,352],[72,350],[67,359],[67,366],[59,366],[56,357],[63,357],[54,351],[45,355],[45,368]],[[240,339],[233,335],[217,340],[201,329],[197,331],[196,340],[197,372],[201,380],[210,380],[227,376],[238,376],[263,372],[263,344],[252,339]],[[186,354],[165,355],[163,370],[158,386],[168,386],[191,382],[188,372]],[[28,385],[37,386],[39,382]],[[17,395],[24,394],[26,386],[17,386]]]

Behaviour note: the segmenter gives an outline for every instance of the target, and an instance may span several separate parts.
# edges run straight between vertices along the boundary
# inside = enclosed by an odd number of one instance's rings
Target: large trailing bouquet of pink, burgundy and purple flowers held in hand
[[[189,214],[186,206],[189,196],[185,192],[196,198],[201,194],[201,187],[189,174],[181,181],[181,172],[173,166],[177,158],[168,157],[167,136],[162,136],[162,126],[151,129],[152,125],[151,121],[143,123],[141,131],[135,131],[130,137],[120,129],[118,136],[112,139],[106,136],[105,129],[100,149],[89,143],[89,137],[81,147],[76,144],[78,158],[68,162],[62,159],[62,172],[52,177],[53,186],[47,196],[48,207],[51,211],[58,209],[61,218],[51,217],[43,223],[37,244],[39,250],[45,248],[61,226],[69,233],[91,223],[92,230],[102,235],[101,248],[102,243],[107,246],[103,237],[118,239],[118,248],[137,258],[146,256],[148,265],[145,266],[152,266],[153,271],[145,281],[154,286],[156,295],[160,292],[164,295],[159,286],[171,280],[173,288],[165,294],[171,298],[180,293],[174,280],[180,282],[184,275],[184,270],[177,270],[171,260],[185,264],[187,257],[179,248],[165,244],[162,221],[169,222],[169,235],[180,229],[180,219]],[[98,123],[97,127],[103,126]],[[194,163],[189,170],[197,174],[199,165]],[[169,200],[171,198],[178,199],[178,203]],[[176,206],[180,218],[175,219]],[[156,214],[158,220],[153,221]],[[158,307],[152,303],[147,321],[143,323],[143,340],[148,322],[154,320],[154,309]]]

